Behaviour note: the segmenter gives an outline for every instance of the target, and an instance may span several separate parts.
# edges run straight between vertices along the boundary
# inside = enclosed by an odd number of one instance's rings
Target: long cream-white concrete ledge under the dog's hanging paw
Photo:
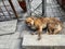
[[[24,35],[22,46],[65,46],[65,35],[42,35],[41,40],[37,38],[37,35]]]

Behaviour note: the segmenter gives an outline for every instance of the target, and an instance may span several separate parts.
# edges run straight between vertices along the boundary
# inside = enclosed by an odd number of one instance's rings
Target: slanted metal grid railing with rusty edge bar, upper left
[[[18,19],[12,0],[0,1],[0,21]]]

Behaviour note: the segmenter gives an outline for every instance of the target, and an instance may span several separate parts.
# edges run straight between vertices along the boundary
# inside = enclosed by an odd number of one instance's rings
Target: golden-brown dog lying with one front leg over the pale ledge
[[[42,28],[47,28],[48,34],[57,34],[62,30],[62,23],[55,17],[27,17],[25,23],[31,28],[38,28],[38,39],[41,38]]]

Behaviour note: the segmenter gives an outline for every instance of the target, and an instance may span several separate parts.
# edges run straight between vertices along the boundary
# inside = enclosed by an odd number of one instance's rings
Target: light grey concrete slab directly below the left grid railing
[[[0,22],[0,35],[14,33],[16,29],[17,20]]]

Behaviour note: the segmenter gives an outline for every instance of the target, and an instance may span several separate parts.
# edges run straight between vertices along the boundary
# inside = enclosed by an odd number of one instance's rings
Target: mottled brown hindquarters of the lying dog
[[[57,34],[62,30],[62,22],[55,17],[50,17],[48,23],[48,34]]]

